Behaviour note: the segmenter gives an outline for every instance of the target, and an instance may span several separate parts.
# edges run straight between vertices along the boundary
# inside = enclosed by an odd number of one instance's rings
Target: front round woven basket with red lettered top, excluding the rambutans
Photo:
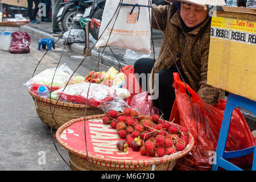
[[[189,133],[185,150],[162,158],[143,156],[131,147],[127,152],[118,151],[116,143],[123,140],[117,130],[102,123],[101,115],[73,119],[59,127],[56,139],[68,150],[69,164],[74,171],[171,171],[176,160],[191,151],[194,139]],[[86,122],[85,122],[86,121]],[[84,126],[85,123],[85,126]],[[85,130],[86,147],[85,147]],[[88,156],[88,157],[87,157]],[[90,165],[88,163],[88,160]]]

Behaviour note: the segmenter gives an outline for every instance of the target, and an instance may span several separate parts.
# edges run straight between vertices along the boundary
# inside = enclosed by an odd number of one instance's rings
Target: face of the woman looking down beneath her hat
[[[201,6],[196,6],[188,3],[181,3],[180,16],[183,19],[185,25],[189,28],[197,26],[204,22],[207,18],[208,10],[204,10]]]

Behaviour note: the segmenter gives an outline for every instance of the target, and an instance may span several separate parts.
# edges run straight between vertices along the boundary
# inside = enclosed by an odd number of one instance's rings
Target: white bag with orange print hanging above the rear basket
[[[101,20],[99,36],[102,34],[102,32],[104,32],[106,26],[110,22],[110,19],[113,17],[115,10],[119,5],[119,2],[119,0],[106,1]],[[138,3],[139,5],[148,6],[148,0],[124,0],[122,3],[130,5],[135,5],[136,3]],[[150,9],[150,12],[148,11],[148,8]],[[96,44],[97,49],[99,47],[105,46],[109,39],[109,46],[118,46],[126,49],[131,49],[133,51],[151,54],[151,8],[139,8],[136,6],[134,7],[133,13],[130,14],[132,9],[133,6],[121,6],[118,17],[116,13],[112,21],[109,23],[108,28],[106,28],[105,32],[98,40]],[[150,15],[148,13],[150,13]],[[117,20],[115,22],[116,17]],[[113,24],[114,28],[109,38]]]

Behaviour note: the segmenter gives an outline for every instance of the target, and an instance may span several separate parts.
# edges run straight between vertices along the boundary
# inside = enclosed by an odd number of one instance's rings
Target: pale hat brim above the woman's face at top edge
[[[164,0],[169,2],[174,2],[174,0]],[[197,6],[225,6],[226,3],[224,0],[175,0],[175,1],[181,1],[181,2],[187,2],[189,4],[197,5]]]

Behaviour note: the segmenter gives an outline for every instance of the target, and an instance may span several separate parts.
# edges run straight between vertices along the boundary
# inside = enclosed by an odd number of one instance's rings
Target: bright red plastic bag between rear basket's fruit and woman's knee
[[[138,93],[142,92],[141,86],[139,85],[139,82],[137,81],[137,78],[134,75],[134,68],[132,65],[127,65],[125,67],[122,67],[120,70],[120,73],[125,73],[125,84],[123,84],[122,88],[125,88],[129,90],[131,96],[126,99],[127,103],[130,105],[131,99],[133,96],[135,96]],[[126,85],[127,83],[127,85]]]

